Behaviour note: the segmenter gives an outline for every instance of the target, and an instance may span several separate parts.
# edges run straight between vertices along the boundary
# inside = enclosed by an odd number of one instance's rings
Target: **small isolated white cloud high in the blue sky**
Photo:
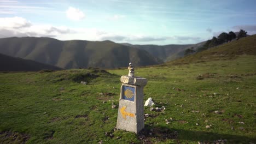
[[[74,21],[83,20],[85,17],[83,11],[73,7],[69,7],[66,10],[66,16],[68,17],[68,19]]]

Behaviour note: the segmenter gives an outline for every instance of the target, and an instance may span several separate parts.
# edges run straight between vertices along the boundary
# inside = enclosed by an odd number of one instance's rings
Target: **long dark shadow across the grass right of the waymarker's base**
[[[249,143],[256,142],[256,137],[247,137],[240,135],[218,134],[207,131],[192,131],[183,129],[170,129],[164,126],[150,126],[145,125],[145,128],[138,134],[138,139],[143,143],[151,143],[150,139],[155,138],[159,142],[172,139],[179,143],[179,141],[201,141],[203,143],[214,143],[217,140],[223,140],[227,143]]]

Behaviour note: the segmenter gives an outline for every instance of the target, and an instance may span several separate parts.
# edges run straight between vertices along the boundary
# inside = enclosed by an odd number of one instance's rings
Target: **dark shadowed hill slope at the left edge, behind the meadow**
[[[38,71],[43,69],[61,70],[61,68],[52,65],[10,57],[0,53],[0,71]]]

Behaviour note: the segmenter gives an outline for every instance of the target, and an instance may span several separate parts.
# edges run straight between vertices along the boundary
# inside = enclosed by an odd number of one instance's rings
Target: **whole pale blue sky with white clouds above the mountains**
[[[0,0],[0,38],[196,44],[240,29],[256,34],[255,0]]]

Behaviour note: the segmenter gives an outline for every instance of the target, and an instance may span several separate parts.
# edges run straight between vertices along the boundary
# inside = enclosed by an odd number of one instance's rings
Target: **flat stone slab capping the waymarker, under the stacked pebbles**
[[[137,86],[146,86],[148,83],[148,80],[145,78],[137,77],[137,76],[130,77],[126,75],[121,76],[120,81],[123,83],[127,83],[130,85],[137,85]]]

